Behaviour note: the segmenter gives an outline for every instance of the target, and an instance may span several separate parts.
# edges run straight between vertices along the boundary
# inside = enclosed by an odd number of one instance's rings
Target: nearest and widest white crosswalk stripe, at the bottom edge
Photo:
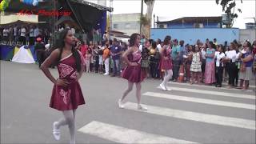
[[[196,143],[96,121],[90,122],[78,131],[120,143]]]

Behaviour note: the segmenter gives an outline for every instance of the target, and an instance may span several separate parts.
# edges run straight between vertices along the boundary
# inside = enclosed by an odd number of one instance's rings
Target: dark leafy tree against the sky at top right
[[[217,5],[220,0],[215,0]],[[240,0],[242,3],[242,0]],[[235,13],[236,0],[221,0],[220,5],[222,6],[222,11],[225,12],[227,18],[230,21],[230,24],[226,27],[231,28],[234,24],[234,18],[238,18],[238,14]],[[239,13],[242,13],[241,9],[237,9]]]

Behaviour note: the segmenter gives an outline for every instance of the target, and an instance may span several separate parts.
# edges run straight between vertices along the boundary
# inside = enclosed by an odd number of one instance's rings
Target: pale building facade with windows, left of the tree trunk
[[[127,35],[139,33],[140,13],[134,14],[113,14],[112,30],[122,31]]]

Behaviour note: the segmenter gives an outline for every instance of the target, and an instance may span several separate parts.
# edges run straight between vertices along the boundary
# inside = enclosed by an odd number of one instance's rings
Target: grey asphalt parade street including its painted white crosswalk
[[[58,77],[57,69],[50,69]],[[215,86],[142,82],[137,110],[134,90],[118,108],[127,82],[103,74],[79,80],[86,105],[76,111],[77,143],[255,143],[255,84],[242,91]],[[35,64],[1,61],[1,143],[69,143],[67,126],[61,139],[52,134],[63,115],[49,107],[53,83]]]

